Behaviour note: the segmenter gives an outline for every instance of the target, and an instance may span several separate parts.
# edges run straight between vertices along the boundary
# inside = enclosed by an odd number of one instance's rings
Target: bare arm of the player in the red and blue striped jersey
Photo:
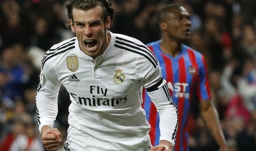
[[[212,101],[200,101],[200,113],[209,132],[217,144],[219,144],[220,151],[227,151],[226,140],[220,126],[219,114]]]

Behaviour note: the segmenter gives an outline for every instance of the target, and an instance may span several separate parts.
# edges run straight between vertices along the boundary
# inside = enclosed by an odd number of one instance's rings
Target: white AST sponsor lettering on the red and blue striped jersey
[[[179,97],[179,98],[189,98],[190,94],[186,92],[186,89],[188,88],[188,83],[174,83],[171,82],[167,83],[168,88],[173,92],[173,96]]]

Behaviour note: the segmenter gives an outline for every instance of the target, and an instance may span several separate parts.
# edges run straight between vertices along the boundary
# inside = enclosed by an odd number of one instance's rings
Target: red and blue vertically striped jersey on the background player
[[[188,114],[192,98],[209,100],[210,88],[204,56],[186,45],[182,45],[181,53],[172,57],[160,48],[160,40],[147,44],[160,63],[162,76],[167,81],[172,100],[178,106],[178,132],[175,150],[188,150]],[[151,103],[150,97],[143,91],[143,108],[146,112],[151,130],[153,145],[159,144],[159,114]],[[161,133],[161,135],[165,135]]]

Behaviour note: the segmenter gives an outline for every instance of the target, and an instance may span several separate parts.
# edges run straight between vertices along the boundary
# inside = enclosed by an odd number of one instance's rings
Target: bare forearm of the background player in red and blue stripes
[[[205,111],[201,111],[201,117],[217,144],[219,144],[220,147],[226,147],[224,133],[222,132],[219,121],[219,114],[213,104]]]

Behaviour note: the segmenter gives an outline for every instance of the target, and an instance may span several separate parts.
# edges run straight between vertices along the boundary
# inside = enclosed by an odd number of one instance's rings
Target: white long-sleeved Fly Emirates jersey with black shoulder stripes
[[[159,62],[139,40],[111,33],[105,53],[96,59],[79,49],[75,37],[53,45],[43,57],[36,92],[40,132],[43,125],[53,127],[61,84],[71,100],[67,139],[81,148],[149,149],[150,125],[141,107],[143,86],[161,115],[161,136],[175,143],[177,108]]]

